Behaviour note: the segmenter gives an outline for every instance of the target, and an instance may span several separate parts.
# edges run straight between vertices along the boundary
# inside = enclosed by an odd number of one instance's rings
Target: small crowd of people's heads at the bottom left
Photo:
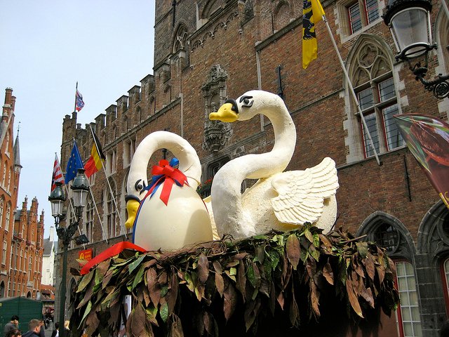
[[[22,333],[19,329],[19,317],[13,315],[11,321],[4,326],[4,337],[45,337],[46,322],[43,319],[32,319],[28,323],[28,331]],[[60,333],[59,323],[53,325],[51,337],[70,337],[69,321],[64,322],[63,333]]]

